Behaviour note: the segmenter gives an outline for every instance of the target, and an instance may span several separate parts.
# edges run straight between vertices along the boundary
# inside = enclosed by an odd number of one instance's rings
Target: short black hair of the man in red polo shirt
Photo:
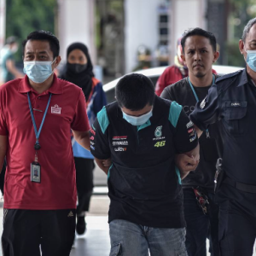
[[[49,48],[53,52],[54,59],[58,55],[60,55],[60,42],[59,39],[55,37],[55,35],[52,32],[44,31],[44,30],[38,30],[31,32],[27,37],[26,40],[22,42],[23,47],[23,55],[25,52],[26,43],[28,40],[39,40],[39,41],[48,41],[49,42]]]

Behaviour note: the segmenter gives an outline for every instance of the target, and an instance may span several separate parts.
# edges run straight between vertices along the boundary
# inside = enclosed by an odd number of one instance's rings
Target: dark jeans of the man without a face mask
[[[205,215],[198,206],[193,189],[183,189],[184,214],[187,223],[186,247],[189,256],[207,255],[207,237],[210,240],[212,256],[218,256],[218,205],[214,194],[206,193],[209,207]]]

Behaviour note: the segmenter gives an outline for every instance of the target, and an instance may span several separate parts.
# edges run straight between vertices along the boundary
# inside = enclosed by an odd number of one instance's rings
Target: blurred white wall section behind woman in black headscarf
[[[68,45],[74,42],[86,44],[91,59],[95,62],[94,0],[58,0],[58,3],[58,37],[63,62],[66,61]]]

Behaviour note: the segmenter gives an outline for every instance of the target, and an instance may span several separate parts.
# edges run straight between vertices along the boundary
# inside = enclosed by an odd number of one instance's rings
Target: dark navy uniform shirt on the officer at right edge
[[[190,119],[202,131],[218,120],[223,126],[224,172],[236,182],[256,186],[256,87],[247,71],[217,79],[208,96],[196,105]],[[230,199],[256,216],[256,194],[223,183],[218,200]]]

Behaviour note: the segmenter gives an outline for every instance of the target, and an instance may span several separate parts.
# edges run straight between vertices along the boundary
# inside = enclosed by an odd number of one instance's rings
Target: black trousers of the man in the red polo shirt
[[[4,256],[68,256],[75,233],[75,209],[3,209]]]

